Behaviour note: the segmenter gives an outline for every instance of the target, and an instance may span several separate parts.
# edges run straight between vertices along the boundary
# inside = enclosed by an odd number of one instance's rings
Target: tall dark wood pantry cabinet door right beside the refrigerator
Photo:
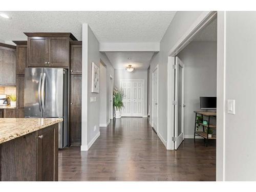
[[[71,75],[70,145],[81,145],[81,86],[82,75]]]

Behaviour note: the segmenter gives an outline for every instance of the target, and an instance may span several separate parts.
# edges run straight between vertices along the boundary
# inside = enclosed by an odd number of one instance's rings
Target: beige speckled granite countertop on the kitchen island
[[[0,144],[61,121],[62,118],[0,118]]]

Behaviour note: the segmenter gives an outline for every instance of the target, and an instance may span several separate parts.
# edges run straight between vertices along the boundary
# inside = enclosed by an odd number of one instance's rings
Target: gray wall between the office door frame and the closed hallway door
[[[195,20],[203,13],[203,11],[178,11],[162,40],[160,41],[160,52],[156,54],[156,58],[151,62],[151,71],[158,68],[159,83],[159,112],[158,112],[158,131],[163,139],[167,142],[167,63],[168,52],[172,49],[182,35],[191,27]],[[152,84],[151,84],[152,86]]]

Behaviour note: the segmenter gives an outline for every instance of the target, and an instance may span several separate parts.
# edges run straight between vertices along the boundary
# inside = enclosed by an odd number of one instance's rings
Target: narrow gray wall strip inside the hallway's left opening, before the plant
[[[109,121],[106,118],[107,109],[106,109],[106,66],[102,65],[102,61],[100,62],[100,85],[99,85],[99,126],[106,126],[106,123]]]

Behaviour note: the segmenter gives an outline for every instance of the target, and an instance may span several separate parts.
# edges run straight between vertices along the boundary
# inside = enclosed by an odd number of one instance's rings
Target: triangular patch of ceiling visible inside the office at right
[[[194,41],[217,41],[217,18],[200,31]]]

